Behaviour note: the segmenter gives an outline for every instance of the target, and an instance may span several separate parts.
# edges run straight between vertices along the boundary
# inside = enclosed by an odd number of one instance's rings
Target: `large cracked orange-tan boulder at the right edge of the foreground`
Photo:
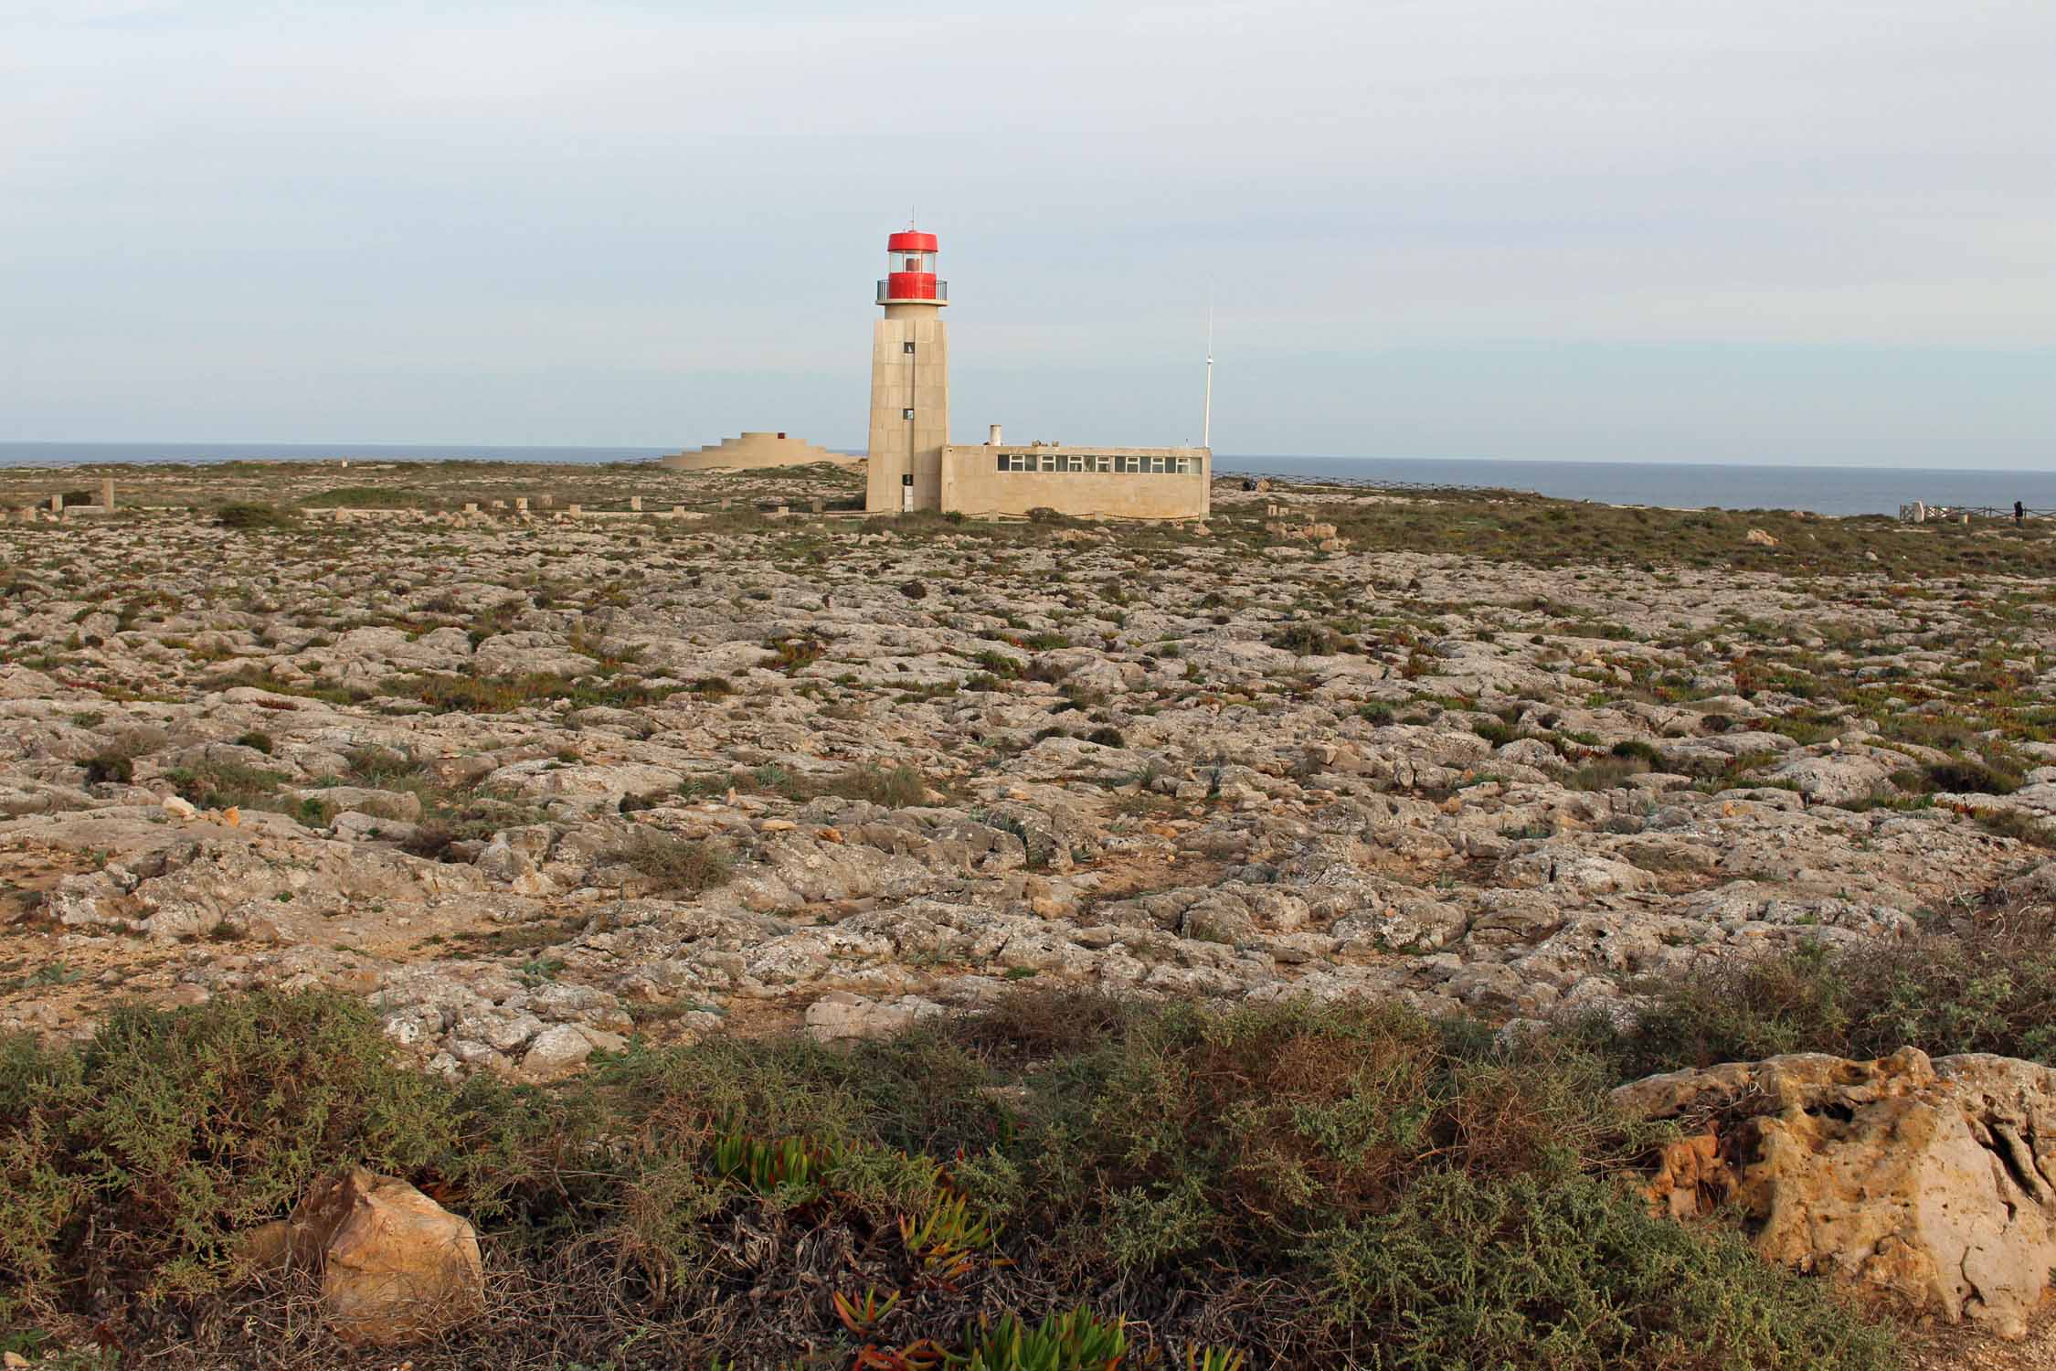
[[[2056,1071],[1803,1052],[1653,1075],[1614,1100],[1702,1124],[1651,1184],[1669,1213],[1737,1200],[1770,1260],[2025,1336],[2056,1268]]]

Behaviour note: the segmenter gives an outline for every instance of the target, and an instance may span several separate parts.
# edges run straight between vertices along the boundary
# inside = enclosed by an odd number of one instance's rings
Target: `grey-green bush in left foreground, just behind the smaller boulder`
[[[4,1038],[0,1291],[210,1291],[234,1235],[325,1168],[419,1174],[452,1165],[458,1137],[454,1091],[397,1069],[370,1009],[337,997],[117,1009],[82,1052]]]

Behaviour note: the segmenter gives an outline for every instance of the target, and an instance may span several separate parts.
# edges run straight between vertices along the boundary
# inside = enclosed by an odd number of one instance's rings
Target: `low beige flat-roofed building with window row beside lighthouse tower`
[[[942,450],[942,510],[1075,518],[1207,518],[1207,448],[960,446]]]

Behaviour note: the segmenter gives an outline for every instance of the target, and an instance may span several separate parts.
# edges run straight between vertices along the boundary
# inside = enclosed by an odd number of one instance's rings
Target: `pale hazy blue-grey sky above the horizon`
[[[2056,2],[0,0],[0,440],[2056,467]]]

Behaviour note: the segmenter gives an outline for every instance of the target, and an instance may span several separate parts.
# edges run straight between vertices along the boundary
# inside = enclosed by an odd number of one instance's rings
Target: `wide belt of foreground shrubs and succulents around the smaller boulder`
[[[360,1163],[487,1239],[493,1311],[417,1365],[849,1365],[847,1334],[857,1365],[993,1371],[1889,1365],[1824,1283],[1653,1217],[1630,1182],[1659,1135],[1563,1040],[1016,991],[841,1048],[631,1046],[553,1089],[393,1050],[356,1001],[273,993],[0,1040],[0,1318],[319,1359],[232,1252]]]

